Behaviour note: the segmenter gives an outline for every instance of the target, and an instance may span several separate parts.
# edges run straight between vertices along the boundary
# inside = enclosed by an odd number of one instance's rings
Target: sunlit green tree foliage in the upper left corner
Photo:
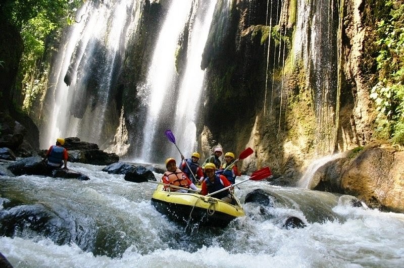
[[[4,0],[0,5],[2,19],[20,30],[24,44],[17,78],[24,110],[29,110],[38,92],[44,90],[45,83],[40,82],[46,76],[42,59],[46,48],[52,49],[49,40],[57,38],[58,29],[73,23],[74,12],[82,3],[83,0]]]

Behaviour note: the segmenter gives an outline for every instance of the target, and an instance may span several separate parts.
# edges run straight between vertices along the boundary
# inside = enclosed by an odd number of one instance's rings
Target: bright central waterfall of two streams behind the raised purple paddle
[[[146,83],[141,87],[140,94],[144,95],[148,105],[142,149],[138,155],[144,162],[178,155],[174,146],[171,150],[161,149],[161,143],[168,142],[164,129],[173,131],[181,152],[191,153],[196,148],[195,107],[204,79],[200,62],[216,0],[208,5],[205,2],[191,4],[180,0],[171,4],[154,49]],[[182,44],[188,49],[185,68],[178,72],[175,63],[181,48],[178,43],[182,31],[189,35],[187,43]]]

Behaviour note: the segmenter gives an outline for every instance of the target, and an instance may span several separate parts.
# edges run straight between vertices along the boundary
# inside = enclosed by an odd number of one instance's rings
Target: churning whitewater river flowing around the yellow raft
[[[224,229],[184,227],[151,205],[155,184],[125,181],[123,175],[103,172],[104,166],[69,163],[69,168],[90,180],[0,178],[2,230],[8,224],[4,219],[18,215],[16,210],[31,209],[36,211],[33,215],[46,210],[44,215],[52,216],[43,223],[38,216],[21,217],[20,225],[2,234],[0,252],[14,267],[402,267],[404,263],[404,215],[353,207],[346,196],[247,181],[236,189],[242,204],[246,194],[258,188],[282,201],[264,208],[245,203],[246,217]],[[159,180],[162,175],[155,176]],[[288,216],[307,226],[283,228]]]

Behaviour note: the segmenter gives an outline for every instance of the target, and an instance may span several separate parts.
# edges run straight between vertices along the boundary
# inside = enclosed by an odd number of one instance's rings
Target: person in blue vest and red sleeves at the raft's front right
[[[205,174],[206,178],[202,183],[202,189],[200,194],[207,195],[208,193],[213,193],[219,190],[222,190],[225,187],[231,186],[231,183],[226,179],[223,175],[217,175],[215,173],[216,166],[213,163],[208,163],[205,165]],[[230,191],[233,187],[230,187],[227,190],[221,191],[212,195],[212,197],[221,199],[227,203],[231,203],[231,194]]]

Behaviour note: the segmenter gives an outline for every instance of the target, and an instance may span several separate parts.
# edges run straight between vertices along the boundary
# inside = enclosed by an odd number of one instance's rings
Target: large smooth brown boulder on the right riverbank
[[[370,207],[403,213],[404,151],[378,141],[350,150],[319,168],[309,189],[354,195]]]

